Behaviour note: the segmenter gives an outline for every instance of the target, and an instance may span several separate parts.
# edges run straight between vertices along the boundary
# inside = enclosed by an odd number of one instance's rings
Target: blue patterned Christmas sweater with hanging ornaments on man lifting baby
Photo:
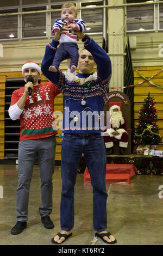
[[[97,72],[77,74],[48,71],[59,42],[47,44],[41,70],[63,95],[63,133],[101,133],[104,127],[104,103],[111,78],[108,54],[91,38],[84,47],[91,52]],[[55,109],[55,108],[54,108]]]

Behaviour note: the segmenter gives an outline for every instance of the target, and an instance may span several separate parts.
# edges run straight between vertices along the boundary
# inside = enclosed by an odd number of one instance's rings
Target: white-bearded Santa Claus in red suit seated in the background
[[[110,128],[104,132],[105,147],[108,149],[107,154],[114,154],[114,138],[118,139],[120,154],[125,155],[125,148],[128,146],[128,134],[126,120],[122,116],[119,106],[114,105],[109,109]]]

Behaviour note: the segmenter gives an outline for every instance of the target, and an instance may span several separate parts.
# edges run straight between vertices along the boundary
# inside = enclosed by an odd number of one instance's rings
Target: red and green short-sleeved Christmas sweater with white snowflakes
[[[24,87],[12,93],[11,105],[21,98]],[[46,138],[57,134],[54,125],[54,98],[60,93],[53,83],[37,84],[31,96],[27,96],[20,115],[20,141]]]

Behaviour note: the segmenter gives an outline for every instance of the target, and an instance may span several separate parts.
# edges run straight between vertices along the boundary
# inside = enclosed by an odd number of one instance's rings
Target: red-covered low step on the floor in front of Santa
[[[134,164],[106,164],[106,183],[126,182],[130,183],[131,177],[135,175],[136,167]],[[84,172],[84,182],[91,182],[87,167]]]

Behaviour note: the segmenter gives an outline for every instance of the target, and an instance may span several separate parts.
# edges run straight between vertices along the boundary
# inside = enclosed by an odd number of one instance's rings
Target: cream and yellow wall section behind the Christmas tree
[[[162,33],[130,34],[131,58],[134,67],[134,112],[135,127],[139,118],[139,111],[148,92],[154,97],[158,109],[158,126],[163,139],[163,88],[152,86],[149,82],[137,75],[136,69],[141,75],[150,78],[163,68],[163,37]],[[151,80],[153,83],[163,86],[163,71]],[[137,83],[143,82],[140,86]],[[163,143],[159,144],[159,150],[163,149]]]

